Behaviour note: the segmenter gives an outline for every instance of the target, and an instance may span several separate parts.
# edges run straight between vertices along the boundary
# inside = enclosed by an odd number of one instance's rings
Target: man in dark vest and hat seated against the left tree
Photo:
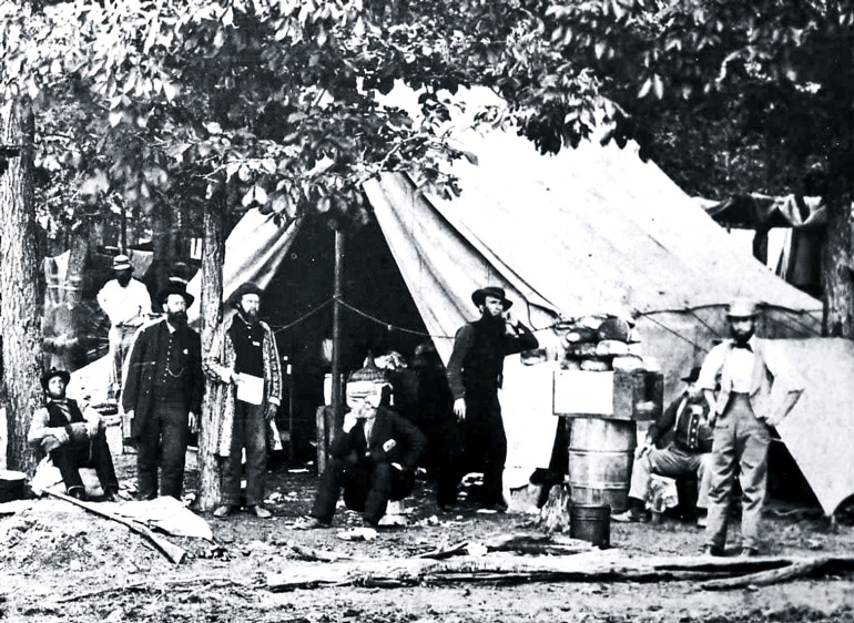
[[[65,396],[70,379],[65,370],[52,369],[42,375],[47,402],[33,413],[27,440],[50,455],[69,496],[85,499],[80,468],[94,468],[104,499],[119,501],[119,481],[101,416],[92,407],[79,406]]]

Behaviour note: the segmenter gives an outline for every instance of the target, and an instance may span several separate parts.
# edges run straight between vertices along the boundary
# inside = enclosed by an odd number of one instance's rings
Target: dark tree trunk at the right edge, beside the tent
[[[824,327],[826,337],[854,336],[852,280],[852,214],[843,196],[827,197],[827,229],[822,254]]]

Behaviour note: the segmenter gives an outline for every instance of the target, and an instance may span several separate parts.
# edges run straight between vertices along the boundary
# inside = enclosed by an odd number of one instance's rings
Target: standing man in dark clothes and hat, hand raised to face
[[[508,355],[537,348],[539,343],[525,325],[510,318],[512,302],[504,288],[476,289],[471,300],[480,318],[457,330],[448,360],[448,381],[454,413],[464,431],[464,462],[484,471],[480,507],[504,511],[507,437],[498,401],[504,360]]]

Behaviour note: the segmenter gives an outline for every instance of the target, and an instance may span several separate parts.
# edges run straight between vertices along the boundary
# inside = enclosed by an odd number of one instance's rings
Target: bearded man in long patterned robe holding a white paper
[[[263,290],[247,282],[230,298],[235,313],[214,335],[204,370],[214,391],[216,455],[224,458],[221,505],[226,517],[241,505],[243,451],[246,451],[246,507],[261,519],[267,469],[267,428],[282,402],[282,366],[270,325],[258,318]]]

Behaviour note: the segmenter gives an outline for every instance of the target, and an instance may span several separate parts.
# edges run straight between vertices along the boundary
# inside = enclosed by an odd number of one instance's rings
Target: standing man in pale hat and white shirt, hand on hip
[[[758,316],[755,302],[733,300],[726,312],[731,337],[712,348],[700,370],[698,385],[705,394],[714,429],[704,554],[724,553],[736,468],[742,489],[741,554],[759,553],[770,429],[803,392],[800,375],[754,335]]]

